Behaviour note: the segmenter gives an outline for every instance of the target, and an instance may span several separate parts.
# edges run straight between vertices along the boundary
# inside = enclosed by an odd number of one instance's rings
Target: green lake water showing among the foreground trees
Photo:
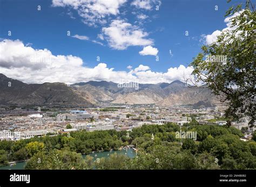
[[[114,153],[117,153],[118,155],[126,155],[126,156],[129,156],[130,158],[133,158],[136,156],[136,153],[134,152],[133,149],[127,149],[127,151],[125,149],[122,149],[122,150],[113,150],[112,152],[97,152],[97,153],[91,153],[89,154],[90,156],[93,157],[93,161],[96,161],[96,159],[100,159],[102,157],[109,157],[109,155],[111,154],[114,154]],[[125,154],[126,153],[126,154]],[[97,155],[97,156],[95,156]],[[85,158],[86,155],[83,155],[83,157]],[[25,169],[25,163],[26,162],[18,162],[16,163],[15,166],[4,166],[4,167],[0,167],[0,169],[9,169],[9,170],[12,170],[12,169]]]

